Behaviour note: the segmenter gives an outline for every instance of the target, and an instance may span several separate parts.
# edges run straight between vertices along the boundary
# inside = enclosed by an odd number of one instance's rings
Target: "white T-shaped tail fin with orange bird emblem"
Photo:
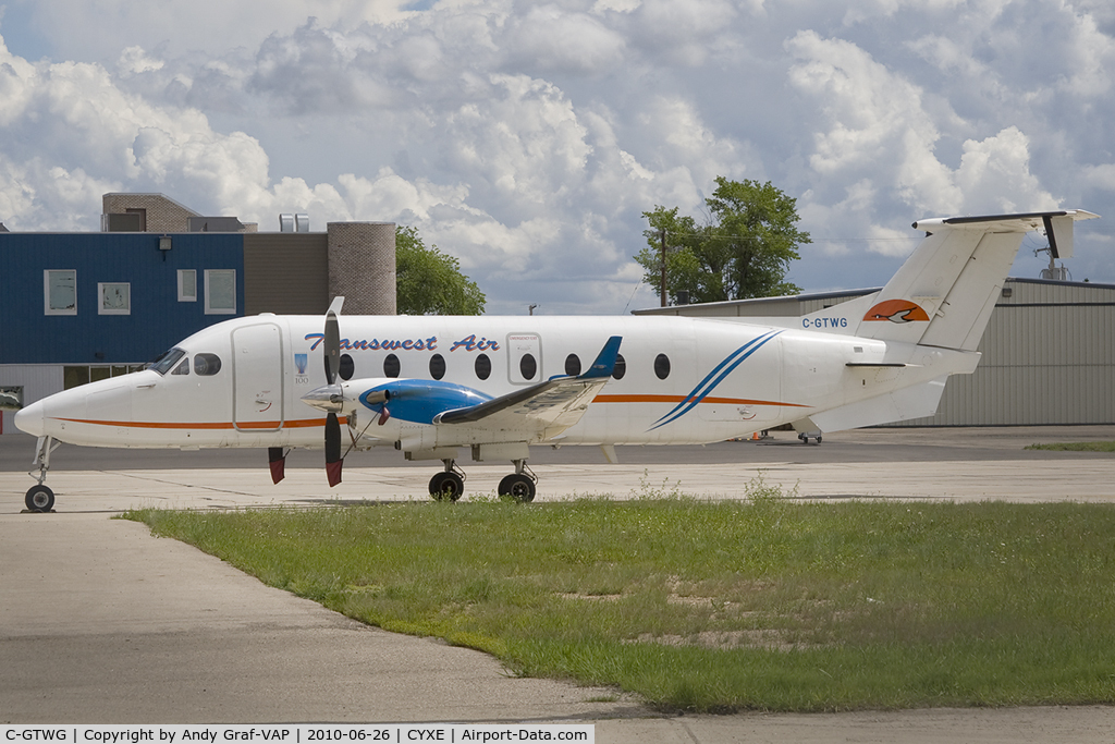
[[[1022,238],[1045,230],[1055,255],[1073,252],[1083,210],[914,222],[925,239],[871,300],[856,336],[973,351]],[[866,298],[864,298],[866,299]]]

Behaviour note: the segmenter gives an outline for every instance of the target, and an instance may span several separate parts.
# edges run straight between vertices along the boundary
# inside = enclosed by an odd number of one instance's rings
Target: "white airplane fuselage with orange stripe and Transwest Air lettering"
[[[685,444],[746,436],[971,371],[978,358],[785,322],[797,327],[675,317],[345,316],[341,351],[351,365],[341,374],[380,383],[440,376],[495,397],[579,374],[620,336],[622,361],[583,417],[527,444]],[[17,423],[94,446],[321,447],[324,415],[301,399],[326,385],[321,336],[318,316],[229,320],[177,345],[183,354],[173,368],[59,393],[25,408]],[[350,427],[362,433],[361,445],[401,442],[405,451],[506,441],[478,425],[455,429],[392,414],[380,424],[358,412]]]

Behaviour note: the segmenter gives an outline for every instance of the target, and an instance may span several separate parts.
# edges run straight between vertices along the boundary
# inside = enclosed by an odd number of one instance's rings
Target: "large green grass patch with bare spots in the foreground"
[[[1115,702],[1115,509],[580,497],[129,519],[371,625],[663,709]]]

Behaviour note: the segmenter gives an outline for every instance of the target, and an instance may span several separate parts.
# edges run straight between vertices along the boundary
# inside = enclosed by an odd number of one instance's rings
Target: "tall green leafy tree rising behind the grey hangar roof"
[[[796,228],[797,200],[766,182],[728,181],[717,176],[716,191],[705,200],[709,222],[697,224],[678,215],[678,207],[656,206],[643,212],[650,229],[648,248],[634,257],[646,270],[644,281],[662,290],[662,231],[666,231],[666,284],[671,301],[679,291],[690,302],[717,302],[749,297],[796,294],[801,288],[785,281],[797,247],[809,233]]]

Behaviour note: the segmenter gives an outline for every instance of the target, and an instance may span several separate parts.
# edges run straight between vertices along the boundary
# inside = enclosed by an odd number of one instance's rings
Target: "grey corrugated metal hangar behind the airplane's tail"
[[[795,317],[862,297],[851,290],[640,315]],[[953,375],[935,416],[894,426],[1115,423],[1115,287],[1008,279],[980,341],[979,367]]]

